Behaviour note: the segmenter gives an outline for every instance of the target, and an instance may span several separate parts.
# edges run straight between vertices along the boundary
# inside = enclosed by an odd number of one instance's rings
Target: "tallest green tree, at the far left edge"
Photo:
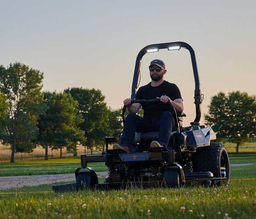
[[[36,147],[37,119],[44,112],[41,94],[43,73],[20,63],[0,66],[0,92],[8,102],[7,117],[1,120],[4,144],[11,144],[11,162],[15,152],[31,152]]]

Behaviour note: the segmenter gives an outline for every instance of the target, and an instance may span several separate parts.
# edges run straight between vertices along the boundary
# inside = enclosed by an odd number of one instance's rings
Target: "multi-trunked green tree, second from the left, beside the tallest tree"
[[[48,159],[48,147],[60,148],[60,158],[63,147],[76,154],[78,141],[85,142],[84,132],[78,127],[84,121],[78,114],[78,102],[71,94],[45,92],[44,103],[47,110],[38,120],[37,140],[45,148],[45,159]]]

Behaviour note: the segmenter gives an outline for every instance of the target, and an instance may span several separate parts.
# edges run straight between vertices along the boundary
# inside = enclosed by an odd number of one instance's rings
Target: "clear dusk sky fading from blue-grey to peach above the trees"
[[[20,62],[44,72],[44,91],[101,90],[112,109],[131,97],[139,51],[166,42],[186,42],[195,51],[201,125],[218,92],[256,94],[255,0],[0,0],[0,30],[0,65]],[[195,119],[189,52],[147,53],[140,86],[150,82],[155,58],[166,64],[164,79],[180,88],[188,126]]]

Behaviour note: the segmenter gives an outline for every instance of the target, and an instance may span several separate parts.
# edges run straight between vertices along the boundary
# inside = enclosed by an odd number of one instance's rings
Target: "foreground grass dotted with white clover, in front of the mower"
[[[85,190],[54,193],[52,185],[0,192],[1,218],[256,217],[256,180],[184,189]]]

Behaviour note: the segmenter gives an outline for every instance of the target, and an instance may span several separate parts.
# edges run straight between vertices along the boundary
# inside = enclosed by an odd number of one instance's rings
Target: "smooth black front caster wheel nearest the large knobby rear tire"
[[[163,185],[167,188],[180,188],[180,168],[177,166],[167,167],[163,173]]]

